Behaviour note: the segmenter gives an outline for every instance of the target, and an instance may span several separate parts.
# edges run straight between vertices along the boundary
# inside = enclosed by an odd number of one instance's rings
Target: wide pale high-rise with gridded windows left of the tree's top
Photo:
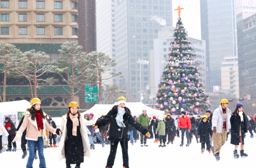
[[[140,97],[138,59],[150,61],[153,40],[165,25],[172,25],[171,0],[115,0],[116,71],[124,78],[116,78],[119,89],[128,91],[134,101]],[[150,83],[149,65],[142,65],[142,90]]]

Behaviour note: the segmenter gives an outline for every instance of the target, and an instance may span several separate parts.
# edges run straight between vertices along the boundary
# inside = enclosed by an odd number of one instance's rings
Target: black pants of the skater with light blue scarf
[[[110,144],[110,153],[107,161],[106,167],[113,167],[115,158],[116,158],[116,150],[118,146],[118,141],[114,141],[114,144]],[[128,141],[120,142],[122,153],[123,153],[123,166],[129,168],[129,157],[128,157]]]

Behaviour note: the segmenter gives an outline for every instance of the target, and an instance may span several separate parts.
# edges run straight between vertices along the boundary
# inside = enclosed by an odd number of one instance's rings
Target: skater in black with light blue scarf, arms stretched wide
[[[125,107],[126,98],[120,96],[117,98],[117,106],[115,105],[107,115],[101,117],[97,120],[95,124],[95,129],[105,126],[110,122],[109,128],[109,141],[110,144],[110,154],[108,157],[108,161],[106,164],[106,168],[112,168],[114,165],[115,157],[116,157],[116,150],[117,145],[120,142],[122,153],[123,153],[123,167],[129,168],[128,163],[128,127],[129,124],[140,131],[143,135],[150,137],[150,133],[148,132],[147,128],[141,126],[138,121],[136,121],[132,115],[131,111]]]

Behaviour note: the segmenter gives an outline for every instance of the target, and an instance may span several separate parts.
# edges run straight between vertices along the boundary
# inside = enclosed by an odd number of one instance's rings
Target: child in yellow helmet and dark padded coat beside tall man
[[[202,119],[199,122],[198,129],[197,129],[197,136],[200,138],[201,143],[201,153],[205,150],[205,143],[206,143],[206,150],[211,153],[211,145],[210,145],[210,136],[212,138],[212,128],[209,123],[207,115],[203,115]]]

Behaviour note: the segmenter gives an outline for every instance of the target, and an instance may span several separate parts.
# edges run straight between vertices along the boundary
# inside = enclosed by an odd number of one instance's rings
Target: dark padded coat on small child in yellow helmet
[[[197,134],[200,135],[200,143],[210,143],[210,135],[212,135],[212,127],[207,120],[207,122],[203,122],[200,120]]]

